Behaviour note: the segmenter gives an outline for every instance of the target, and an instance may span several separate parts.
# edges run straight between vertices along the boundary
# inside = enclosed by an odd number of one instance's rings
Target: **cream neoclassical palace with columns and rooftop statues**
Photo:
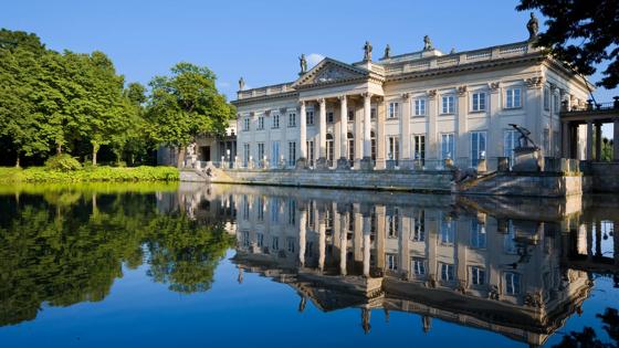
[[[559,109],[584,105],[591,85],[533,40],[448,54],[421,51],[360,62],[325,57],[293,82],[238,98],[238,161],[253,167],[384,169],[417,162],[460,167],[513,157],[531,130],[546,157],[562,156]]]

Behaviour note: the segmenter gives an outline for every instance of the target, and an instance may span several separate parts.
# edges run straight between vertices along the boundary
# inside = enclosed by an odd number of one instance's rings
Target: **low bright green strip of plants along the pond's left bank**
[[[83,182],[83,181],[176,181],[174,167],[118,168],[98,166],[75,171],[48,170],[43,167],[27,169],[0,167],[0,182]]]

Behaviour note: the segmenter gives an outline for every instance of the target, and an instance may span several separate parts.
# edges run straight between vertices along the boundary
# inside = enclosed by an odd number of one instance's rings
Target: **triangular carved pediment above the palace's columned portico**
[[[369,77],[367,70],[326,57],[303,74],[292,85],[293,88],[306,88],[317,85],[353,82]]]

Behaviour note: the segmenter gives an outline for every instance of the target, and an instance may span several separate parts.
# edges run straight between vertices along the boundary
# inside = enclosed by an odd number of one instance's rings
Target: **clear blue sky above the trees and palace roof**
[[[0,27],[34,32],[52,50],[103,51],[127,82],[143,84],[181,61],[206,65],[229,99],[240,76],[245,88],[294,81],[302,53],[310,67],[323,56],[360,61],[366,40],[381,56],[386,44],[392,55],[419,51],[423,35],[443,52],[528,38],[528,13],[512,0],[3,2]],[[615,95],[595,93],[598,102]]]

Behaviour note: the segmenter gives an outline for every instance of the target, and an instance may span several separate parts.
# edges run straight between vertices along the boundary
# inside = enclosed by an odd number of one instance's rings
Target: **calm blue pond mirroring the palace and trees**
[[[0,187],[0,346],[617,344],[618,226],[612,196]]]

